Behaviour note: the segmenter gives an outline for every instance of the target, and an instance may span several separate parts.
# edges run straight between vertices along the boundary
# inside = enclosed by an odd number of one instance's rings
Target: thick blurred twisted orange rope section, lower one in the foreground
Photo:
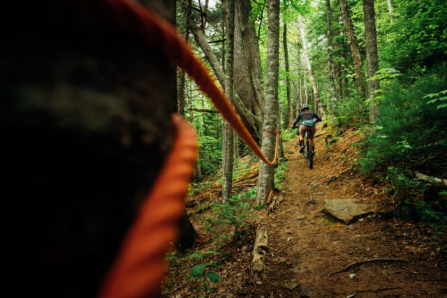
[[[177,135],[159,176],[142,202],[108,272],[100,298],[154,297],[165,276],[170,242],[177,238],[177,223],[184,216],[184,197],[197,156],[196,133],[178,115]]]

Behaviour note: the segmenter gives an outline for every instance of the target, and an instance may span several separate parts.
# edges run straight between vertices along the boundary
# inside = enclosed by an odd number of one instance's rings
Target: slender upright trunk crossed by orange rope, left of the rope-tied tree
[[[233,101],[233,50],[235,38],[235,0],[228,1],[228,12],[226,13],[226,81],[225,94]],[[222,203],[231,197],[231,186],[233,183],[233,154],[234,154],[234,132],[230,125],[223,121],[223,144],[225,148],[223,159],[223,181],[222,181]]]

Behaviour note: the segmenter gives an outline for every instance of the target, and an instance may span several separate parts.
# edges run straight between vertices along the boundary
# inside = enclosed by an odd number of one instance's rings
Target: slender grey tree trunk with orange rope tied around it
[[[276,135],[269,131],[277,130],[278,117],[278,73],[279,73],[279,0],[268,0],[268,36],[267,36],[267,75],[266,100],[263,121],[263,142],[261,151],[270,161],[274,158]],[[259,163],[258,193],[256,202],[265,204],[273,189],[274,168]]]

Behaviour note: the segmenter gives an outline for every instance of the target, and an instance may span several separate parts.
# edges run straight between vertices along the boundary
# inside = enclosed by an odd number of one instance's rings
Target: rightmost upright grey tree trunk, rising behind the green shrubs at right
[[[379,70],[374,0],[363,0],[363,15],[365,16],[367,73],[370,79]],[[379,96],[377,92],[379,89],[379,80],[368,80],[369,122],[372,124],[376,123],[376,119],[379,117],[379,103],[374,102],[374,98]]]

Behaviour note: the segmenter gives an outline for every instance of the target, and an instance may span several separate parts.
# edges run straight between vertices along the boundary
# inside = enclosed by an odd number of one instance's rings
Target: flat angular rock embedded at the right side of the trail
[[[329,199],[325,200],[323,209],[328,214],[348,224],[357,216],[369,214],[373,208],[367,204],[356,202],[356,199]]]

